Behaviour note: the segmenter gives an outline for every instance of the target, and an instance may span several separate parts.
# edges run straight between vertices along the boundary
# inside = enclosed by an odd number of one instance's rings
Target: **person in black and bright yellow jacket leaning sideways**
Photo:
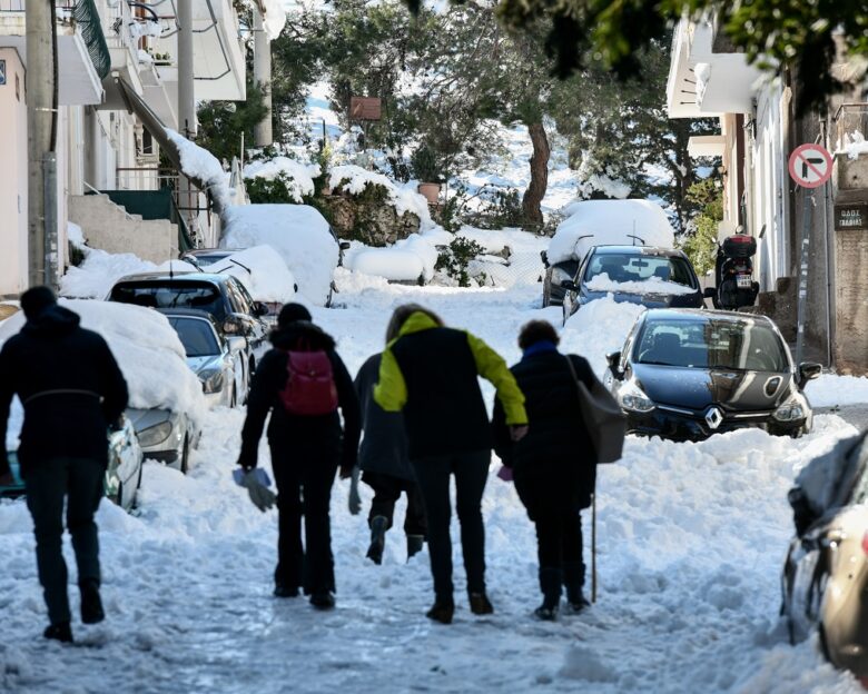
[[[410,460],[428,523],[434,577],[431,619],[450,624],[455,611],[450,537],[450,477],[455,475],[456,510],[471,611],[494,612],[485,594],[485,528],[482,493],[489,476],[492,435],[477,376],[497,390],[505,422],[517,439],[527,430],[524,396],[506,363],[483,340],[453,328],[422,306],[400,306],[386,331],[374,399],[386,412],[403,412]]]

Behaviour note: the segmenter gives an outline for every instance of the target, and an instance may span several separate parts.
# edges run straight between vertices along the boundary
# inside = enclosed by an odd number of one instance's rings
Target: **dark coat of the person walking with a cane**
[[[569,358],[579,378],[591,388],[596,377],[588,361],[576,355]],[[596,480],[596,460],[566,358],[552,348],[525,356],[511,370],[524,393],[530,429],[513,443],[503,409],[495,403],[495,450],[512,468],[529,515],[534,518],[541,508],[553,505],[586,508]]]

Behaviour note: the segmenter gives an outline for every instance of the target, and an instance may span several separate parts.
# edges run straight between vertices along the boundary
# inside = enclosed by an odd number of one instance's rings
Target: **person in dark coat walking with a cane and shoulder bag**
[[[503,408],[495,403],[495,452],[512,468],[515,489],[536,525],[541,619],[554,619],[566,587],[570,608],[588,605],[582,595],[582,519],[580,510],[591,505],[596,480],[596,460],[582,422],[575,376],[591,389],[596,377],[588,361],[558,351],[558,333],[551,324],[533,320],[519,336],[522,360],[512,367],[524,393],[527,436],[512,440]]]

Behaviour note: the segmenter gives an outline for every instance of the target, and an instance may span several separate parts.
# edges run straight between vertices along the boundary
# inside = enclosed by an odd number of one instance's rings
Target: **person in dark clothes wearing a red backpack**
[[[309,311],[300,304],[287,304],[280,309],[270,340],[274,348],[259,361],[250,386],[238,465],[245,470],[256,467],[259,438],[270,412],[268,445],[278,492],[274,594],[295,597],[303,587],[314,607],[328,609],[335,605],[328,507],[338,467],[341,477],[346,478],[356,464],[361,432],[358,398],[353,379],[335,351],[334,339],[310,323]],[[328,355],[338,407],[344,416],[343,432],[337,410],[312,416],[293,415],[284,408],[279,394],[287,383],[289,350],[323,350]]]

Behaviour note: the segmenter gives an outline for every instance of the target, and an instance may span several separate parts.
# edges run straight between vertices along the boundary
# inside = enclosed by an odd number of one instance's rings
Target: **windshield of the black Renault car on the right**
[[[639,364],[747,371],[787,371],[787,355],[767,325],[744,320],[648,320],[633,358]]]

